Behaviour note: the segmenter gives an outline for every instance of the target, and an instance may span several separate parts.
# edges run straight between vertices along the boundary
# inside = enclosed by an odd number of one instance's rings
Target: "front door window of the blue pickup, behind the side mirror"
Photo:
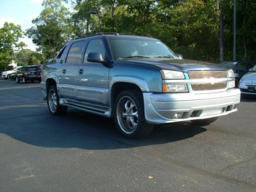
[[[101,39],[93,39],[89,41],[83,62],[87,62],[87,56],[89,53],[101,53],[102,58],[105,58],[105,47]]]

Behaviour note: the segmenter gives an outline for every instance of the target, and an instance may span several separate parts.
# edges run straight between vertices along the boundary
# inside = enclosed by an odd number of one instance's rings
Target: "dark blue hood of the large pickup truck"
[[[169,58],[139,58],[125,59],[118,61],[131,65],[139,65],[153,67],[159,70],[174,71],[191,71],[191,70],[227,70],[227,68],[215,63],[207,63],[203,61],[186,60],[186,59],[169,59]]]

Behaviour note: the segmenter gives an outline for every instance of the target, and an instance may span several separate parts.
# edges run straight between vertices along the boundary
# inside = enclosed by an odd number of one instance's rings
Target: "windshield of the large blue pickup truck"
[[[178,58],[157,39],[141,37],[109,37],[115,60],[124,58]]]

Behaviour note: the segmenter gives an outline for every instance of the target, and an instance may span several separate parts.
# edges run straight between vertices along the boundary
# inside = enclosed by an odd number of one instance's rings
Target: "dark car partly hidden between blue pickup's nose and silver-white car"
[[[248,61],[227,61],[221,63],[221,65],[234,71],[236,88],[238,87],[239,81],[242,76],[248,73],[249,70],[254,66],[251,62]]]

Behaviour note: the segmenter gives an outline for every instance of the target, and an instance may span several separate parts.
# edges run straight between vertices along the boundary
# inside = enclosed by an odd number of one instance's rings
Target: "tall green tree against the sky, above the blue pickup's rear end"
[[[45,58],[53,58],[74,37],[70,12],[61,4],[61,0],[45,0],[42,6],[44,10],[32,20],[35,26],[26,32]]]

